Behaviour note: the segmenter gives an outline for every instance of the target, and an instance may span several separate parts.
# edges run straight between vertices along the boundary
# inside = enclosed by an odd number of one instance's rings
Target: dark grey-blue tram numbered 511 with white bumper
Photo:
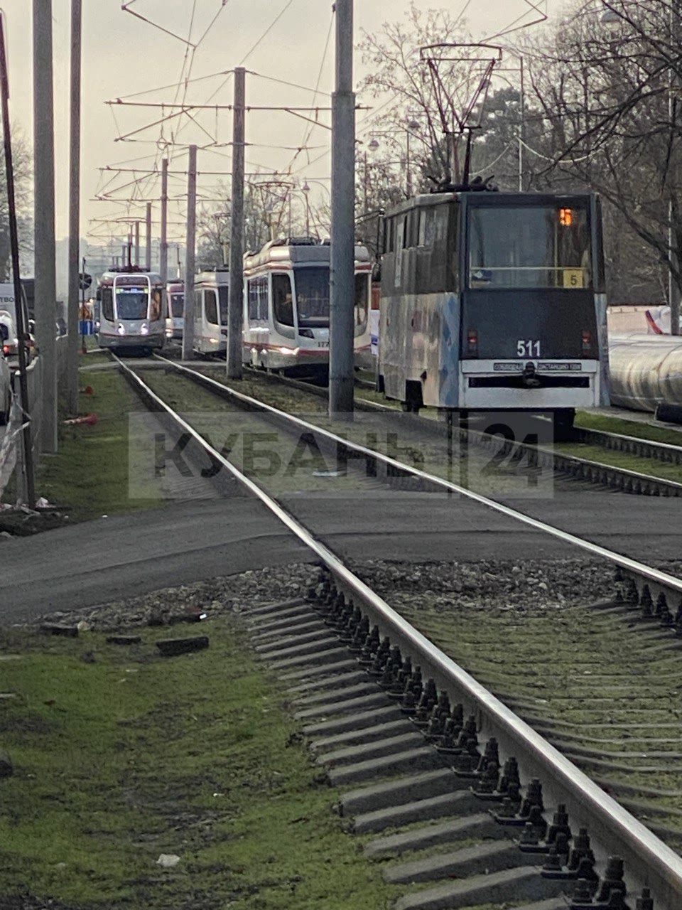
[[[608,404],[595,195],[448,191],[384,221],[379,387],[404,410],[549,412]]]

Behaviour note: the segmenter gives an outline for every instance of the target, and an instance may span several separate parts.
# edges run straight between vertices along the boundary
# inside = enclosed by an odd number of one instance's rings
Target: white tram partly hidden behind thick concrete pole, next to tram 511
[[[246,364],[290,375],[324,377],[329,369],[328,241],[271,240],[244,258]],[[372,263],[356,247],[355,349],[370,349]]]

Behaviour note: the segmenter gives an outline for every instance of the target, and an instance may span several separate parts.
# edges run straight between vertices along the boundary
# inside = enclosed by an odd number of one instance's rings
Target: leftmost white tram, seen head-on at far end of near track
[[[161,276],[134,266],[111,268],[97,288],[100,348],[143,349],[164,347],[164,285]]]

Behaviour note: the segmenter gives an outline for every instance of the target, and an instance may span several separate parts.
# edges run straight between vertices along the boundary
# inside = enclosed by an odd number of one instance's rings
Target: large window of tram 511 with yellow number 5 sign
[[[587,208],[469,209],[470,288],[589,288]]]

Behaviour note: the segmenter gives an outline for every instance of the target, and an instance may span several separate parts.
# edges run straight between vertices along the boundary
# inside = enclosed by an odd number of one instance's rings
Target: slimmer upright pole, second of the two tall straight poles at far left
[[[66,401],[78,411],[78,257],[80,254],[81,172],[81,0],[71,0],[71,136],[69,152],[69,291],[66,336]]]

